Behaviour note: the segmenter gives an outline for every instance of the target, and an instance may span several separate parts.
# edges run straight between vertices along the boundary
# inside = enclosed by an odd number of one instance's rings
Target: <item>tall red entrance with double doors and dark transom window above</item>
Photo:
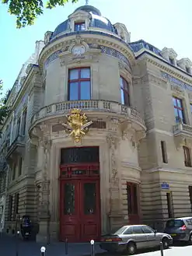
[[[99,147],[61,149],[60,170],[60,240],[99,240]]]

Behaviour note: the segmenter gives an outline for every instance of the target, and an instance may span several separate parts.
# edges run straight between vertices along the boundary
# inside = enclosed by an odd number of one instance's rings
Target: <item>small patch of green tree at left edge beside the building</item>
[[[9,90],[9,91],[7,91],[7,93],[5,93],[5,96],[3,96],[2,89],[3,89],[3,82],[2,82],[2,80],[0,80],[0,96],[1,96],[1,99],[0,99],[0,130],[1,130],[3,121],[5,120],[5,117],[7,117],[7,115],[9,114],[9,111],[10,111],[9,107],[6,106],[6,102],[9,97],[9,94],[11,92]]]

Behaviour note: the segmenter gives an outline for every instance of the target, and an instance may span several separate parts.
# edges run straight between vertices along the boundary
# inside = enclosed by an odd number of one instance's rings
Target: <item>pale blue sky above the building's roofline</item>
[[[1,2],[1,1],[0,1]],[[0,79],[12,88],[23,63],[33,53],[36,40],[43,40],[47,30],[54,31],[76,8],[85,4],[68,3],[65,7],[45,10],[33,26],[16,29],[16,17],[0,4]],[[89,0],[112,23],[124,23],[131,41],[143,39],[162,50],[172,47],[178,58],[192,61],[191,0]]]

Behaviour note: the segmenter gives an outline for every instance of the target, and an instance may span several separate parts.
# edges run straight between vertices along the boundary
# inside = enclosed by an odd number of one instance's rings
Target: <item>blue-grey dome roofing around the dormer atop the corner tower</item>
[[[91,5],[83,5],[79,8],[75,9],[75,12],[84,11],[89,12],[91,15],[89,27],[97,27],[103,30],[109,30],[110,32],[117,33],[113,25],[110,23],[109,19],[101,16],[101,12]],[[74,13],[74,12],[73,12]],[[65,22],[59,24],[56,29],[54,30],[53,37],[58,36],[60,33],[64,33],[65,31],[69,30],[70,28],[70,21],[69,19],[65,20]]]

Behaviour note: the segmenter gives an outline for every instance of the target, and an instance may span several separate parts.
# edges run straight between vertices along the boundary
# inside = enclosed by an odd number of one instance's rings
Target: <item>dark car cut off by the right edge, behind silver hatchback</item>
[[[169,219],[164,232],[169,233],[173,241],[187,241],[192,244],[192,217]]]

